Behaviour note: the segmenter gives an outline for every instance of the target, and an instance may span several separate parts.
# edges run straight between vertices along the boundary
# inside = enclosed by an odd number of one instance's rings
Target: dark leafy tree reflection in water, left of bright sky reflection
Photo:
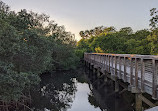
[[[76,79],[71,73],[44,74],[32,91],[33,111],[66,111],[75,98]]]

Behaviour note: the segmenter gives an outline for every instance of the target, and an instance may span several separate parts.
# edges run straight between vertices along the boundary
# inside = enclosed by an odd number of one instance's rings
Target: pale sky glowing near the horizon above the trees
[[[81,30],[96,26],[149,28],[150,9],[158,0],[2,0],[11,10],[46,13],[79,40]]]

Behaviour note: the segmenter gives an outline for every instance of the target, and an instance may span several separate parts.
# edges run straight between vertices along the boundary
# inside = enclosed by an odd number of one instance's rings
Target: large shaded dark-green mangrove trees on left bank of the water
[[[74,35],[45,14],[11,11],[0,2],[0,103],[18,101],[39,74],[74,69]]]

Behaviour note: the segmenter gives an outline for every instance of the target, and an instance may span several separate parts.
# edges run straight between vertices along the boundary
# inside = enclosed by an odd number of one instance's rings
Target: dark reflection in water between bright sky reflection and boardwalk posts
[[[87,70],[86,73],[89,75],[92,71]],[[132,107],[134,100],[132,97],[126,96],[129,92],[119,95],[114,92],[112,81],[109,80],[104,86],[94,81],[96,81],[94,78],[89,79],[91,93],[89,94],[88,100],[91,105],[99,107],[101,111],[134,111]],[[93,84],[93,86],[91,84]],[[125,100],[124,96],[126,98],[130,97],[131,99]]]

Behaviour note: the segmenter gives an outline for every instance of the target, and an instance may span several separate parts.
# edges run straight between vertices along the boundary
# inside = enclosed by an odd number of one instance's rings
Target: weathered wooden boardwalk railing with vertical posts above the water
[[[158,56],[85,53],[84,60],[158,99]]]

